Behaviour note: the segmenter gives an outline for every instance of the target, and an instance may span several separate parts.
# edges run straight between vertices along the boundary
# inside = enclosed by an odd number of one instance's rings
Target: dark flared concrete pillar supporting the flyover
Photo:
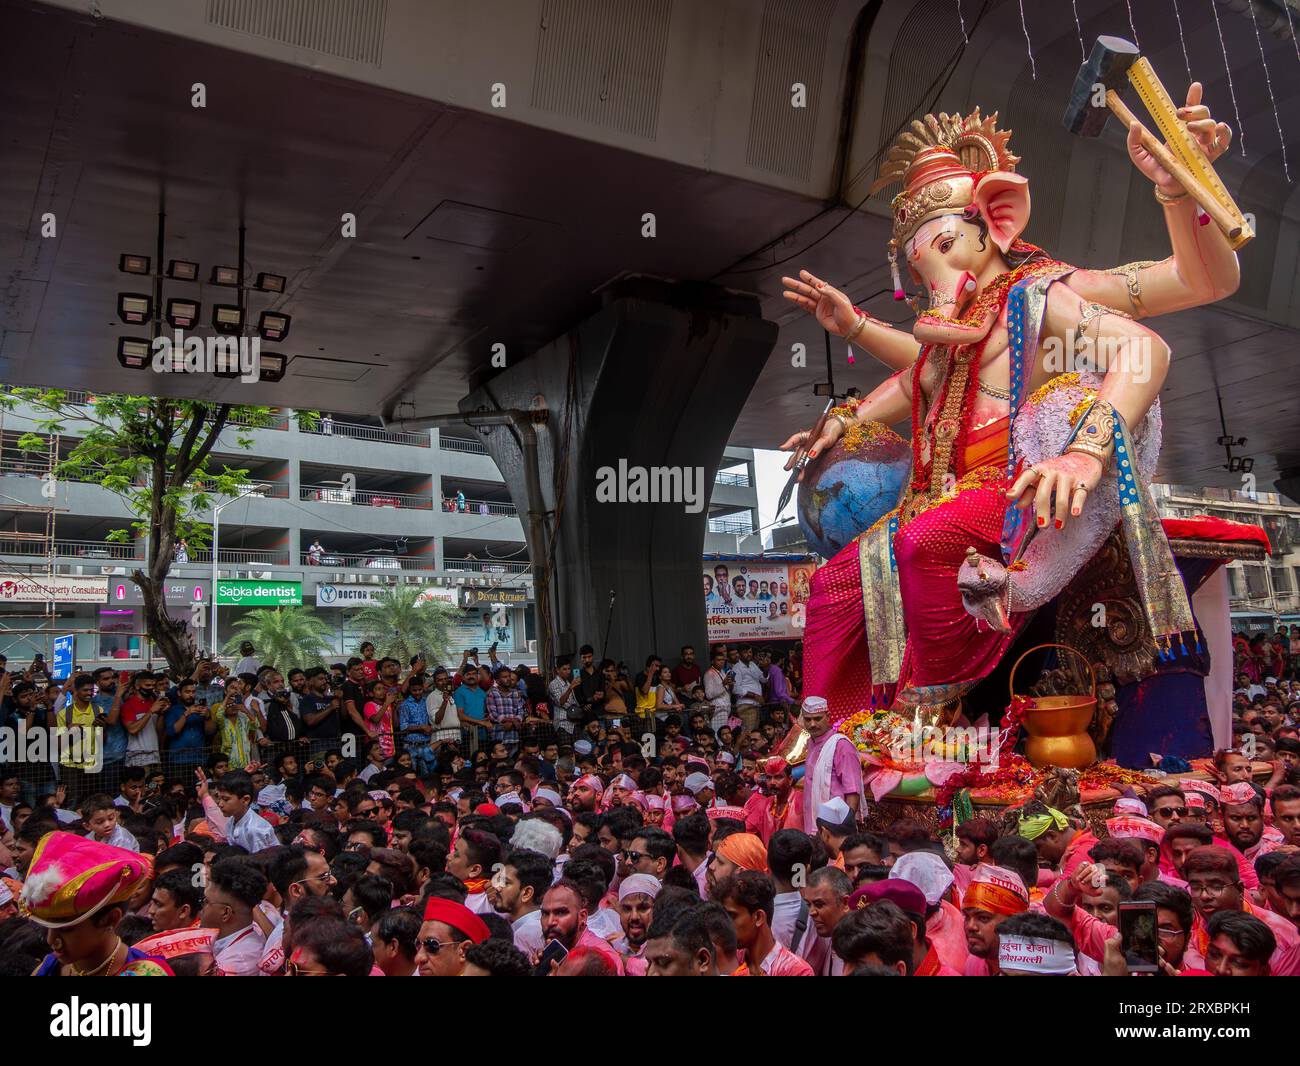
[[[777,329],[757,298],[711,285],[630,278],[602,295],[601,311],[459,406],[469,421],[547,410],[537,443],[555,654],[592,644],[636,670],[650,651],[707,644],[699,564],[708,499]],[[480,432],[523,507],[520,436]],[[530,549],[534,573],[549,568]]]

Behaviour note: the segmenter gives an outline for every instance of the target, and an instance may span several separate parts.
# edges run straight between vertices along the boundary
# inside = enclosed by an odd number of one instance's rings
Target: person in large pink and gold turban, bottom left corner
[[[117,935],[127,901],[152,872],[138,852],[75,833],[42,837],[18,897],[22,915],[48,930],[51,953],[34,976],[173,976],[161,958]]]

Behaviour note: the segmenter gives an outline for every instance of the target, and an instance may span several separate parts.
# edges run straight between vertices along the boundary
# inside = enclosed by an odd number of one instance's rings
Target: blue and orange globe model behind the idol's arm
[[[800,526],[809,546],[832,558],[898,503],[911,446],[881,422],[852,426],[800,482]]]

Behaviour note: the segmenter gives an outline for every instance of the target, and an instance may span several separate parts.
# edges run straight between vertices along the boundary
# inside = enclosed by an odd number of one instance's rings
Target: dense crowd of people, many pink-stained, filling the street
[[[359,651],[5,672],[0,724],[83,741],[0,767],[0,972],[1300,972],[1290,679],[1236,693],[1213,780],[940,833],[881,819],[797,649],[545,677]]]

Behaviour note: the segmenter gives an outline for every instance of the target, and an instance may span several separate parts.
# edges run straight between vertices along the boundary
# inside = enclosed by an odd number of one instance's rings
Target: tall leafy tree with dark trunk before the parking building
[[[20,403],[38,415],[36,432],[18,439],[21,450],[44,452],[46,434],[78,437],[55,468],[55,477],[101,485],[121,497],[135,515],[129,529],[113,529],[105,540],[129,543],[133,532],[146,538],[144,563],[131,572],[144,601],[146,630],[168,666],[181,676],[191,673],[194,638],[183,621],[168,614],[164,598],[173,550],[181,540],[191,549],[205,547],[211,525],[204,519],[213,498],[235,497],[248,489],[248,471],[209,467],[218,438],[230,429],[235,443],[248,448],[250,430],[272,425],[276,412],[270,407],[124,394],[96,395],[83,404],[69,399],[62,389],[0,393],[0,406],[6,410]],[[294,417],[303,429],[313,428],[317,420],[315,411],[298,411]],[[225,439],[229,446],[229,436]]]

